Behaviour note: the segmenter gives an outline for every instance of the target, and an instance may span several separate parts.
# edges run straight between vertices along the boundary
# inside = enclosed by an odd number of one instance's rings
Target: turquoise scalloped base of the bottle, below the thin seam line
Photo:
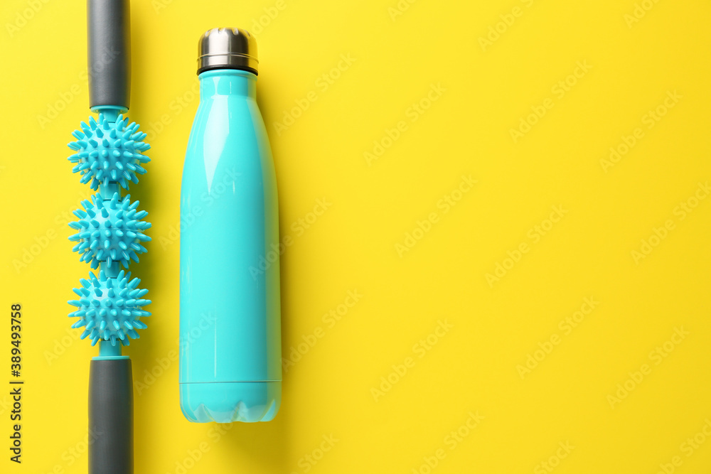
[[[181,383],[180,406],[193,423],[271,421],[282,403],[282,382]]]

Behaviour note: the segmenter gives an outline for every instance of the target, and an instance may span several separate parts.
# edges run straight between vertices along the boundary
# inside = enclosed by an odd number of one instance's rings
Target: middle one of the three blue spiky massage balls
[[[137,210],[139,201],[131,203],[130,198],[130,195],[121,198],[119,193],[114,193],[111,199],[104,200],[95,194],[91,201],[82,201],[83,210],[74,211],[79,220],[70,222],[69,226],[78,232],[69,239],[78,242],[74,252],[92,269],[97,269],[100,262],[106,262],[109,268],[121,262],[127,268],[129,259],[138,262],[138,254],[146,252],[141,242],[151,240],[143,233],[151,223],[141,219],[148,212]]]

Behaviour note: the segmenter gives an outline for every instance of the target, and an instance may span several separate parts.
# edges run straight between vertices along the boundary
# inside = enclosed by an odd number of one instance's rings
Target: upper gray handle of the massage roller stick
[[[89,107],[129,108],[131,93],[129,0],[87,0]]]

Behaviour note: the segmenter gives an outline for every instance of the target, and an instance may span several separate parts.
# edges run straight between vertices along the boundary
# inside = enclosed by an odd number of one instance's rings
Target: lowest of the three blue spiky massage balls
[[[137,288],[141,280],[131,279],[131,273],[122,270],[116,278],[108,278],[104,271],[100,271],[97,278],[90,272],[89,279],[80,282],[82,287],[74,289],[80,299],[68,301],[78,308],[69,313],[69,317],[79,318],[73,328],[84,327],[80,338],[90,338],[92,345],[98,340],[129,345],[129,339],[140,337],[136,330],[147,326],[139,318],[151,316],[143,309],[151,303],[142,298],[148,290]]]

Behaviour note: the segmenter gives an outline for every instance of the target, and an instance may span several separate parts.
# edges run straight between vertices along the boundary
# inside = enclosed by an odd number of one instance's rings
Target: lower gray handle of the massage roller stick
[[[133,474],[130,359],[91,361],[89,437],[89,474]]]

